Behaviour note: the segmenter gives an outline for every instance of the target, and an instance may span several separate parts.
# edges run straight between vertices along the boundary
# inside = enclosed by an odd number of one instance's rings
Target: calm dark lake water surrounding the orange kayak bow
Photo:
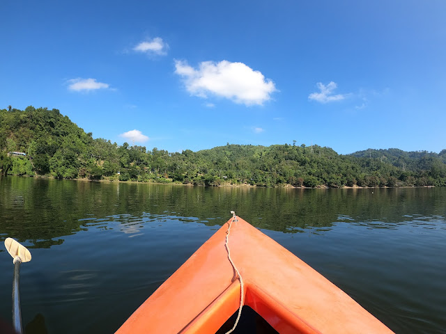
[[[114,333],[238,216],[397,333],[446,333],[446,189],[254,189],[0,179],[0,239],[22,264],[29,333]],[[0,248],[0,318],[12,258]],[[172,310],[175,312],[175,310]]]

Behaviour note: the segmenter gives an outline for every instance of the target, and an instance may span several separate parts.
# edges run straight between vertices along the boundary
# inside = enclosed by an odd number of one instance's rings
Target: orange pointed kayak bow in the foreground
[[[225,247],[229,226],[231,257],[245,285],[244,305],[279,333],[393,333],[289,250],[238,216],[232,221],[116,333],[215,333],[240,306],[240,281]]]

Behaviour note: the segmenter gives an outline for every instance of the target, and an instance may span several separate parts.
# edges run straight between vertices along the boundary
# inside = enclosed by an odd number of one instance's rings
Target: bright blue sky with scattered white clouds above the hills
[[[446,148],[444,0],[24,0],[0,13],[0,108],[56,108],[93,138]]]

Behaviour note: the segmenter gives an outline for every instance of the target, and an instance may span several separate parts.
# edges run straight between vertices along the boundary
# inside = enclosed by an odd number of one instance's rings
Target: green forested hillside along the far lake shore
[[[171,153],[93,139],[59,110],[29,106],[0,110],[0,173],[209,186],[446,186],[446,150],[340,155],[318,145],[227,144]]]

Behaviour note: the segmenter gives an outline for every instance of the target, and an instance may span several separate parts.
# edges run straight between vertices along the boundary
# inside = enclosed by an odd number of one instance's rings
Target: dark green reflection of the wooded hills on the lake
[[[334,223],[391,227],[443,216],[446,189],[264,189],[47,180],[1,179],[1,236],[30,241],[31,248],[61,244],[61,237],[110,222],[135,234],[152,221],[222,225],[235,210],[257,228],[282,232],[329,229]],[[414,216],[419,215],[419,216]]]

